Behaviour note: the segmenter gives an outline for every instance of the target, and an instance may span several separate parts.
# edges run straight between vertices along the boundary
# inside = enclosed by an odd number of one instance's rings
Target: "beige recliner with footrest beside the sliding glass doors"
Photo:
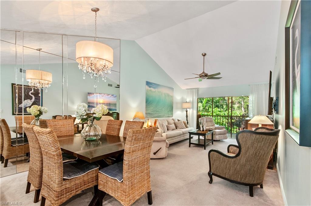
[[[212,117],[201,117],[199,121],[202,120],[202,124],[205,124],[206,130],[214,130],[213,132],[213,139],[214,140],[226,140],[228,139],[228,131],[226,130],[225,126],[215,125],[215,122]],[[211,135],[207,136],[207,139],[211,140]]]

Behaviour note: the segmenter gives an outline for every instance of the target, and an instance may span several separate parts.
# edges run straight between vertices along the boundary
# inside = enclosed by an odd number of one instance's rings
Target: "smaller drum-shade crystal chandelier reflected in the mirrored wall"
[[[26,70],[26,80],[29,81],[28,85],[34,89],[39,89],[39,96],[41,95],[41,89],[45,92],[48,91],[52,83],[52,73],[40,70],[40,51],[41,48],[37,49],[39,51],[39,70]]]

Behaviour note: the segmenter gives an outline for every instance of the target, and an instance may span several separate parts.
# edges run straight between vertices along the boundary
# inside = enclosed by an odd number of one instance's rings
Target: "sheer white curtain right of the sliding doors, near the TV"
[[[250,85],[249,117],[267,115],[269,84]]]

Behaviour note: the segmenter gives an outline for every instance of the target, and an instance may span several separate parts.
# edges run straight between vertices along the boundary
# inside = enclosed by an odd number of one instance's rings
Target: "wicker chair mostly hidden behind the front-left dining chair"
[[[30,151],[30,162],[27,181],[39,190],[42,185],[42,173],[43,173],[43,158],[42,151],[37,136],[34,132],[34,125],[22,124],[24,131],[26,132],[29,151]]]

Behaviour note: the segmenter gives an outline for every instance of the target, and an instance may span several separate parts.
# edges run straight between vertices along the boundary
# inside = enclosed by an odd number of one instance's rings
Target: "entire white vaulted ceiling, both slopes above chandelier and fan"
[[[136,40],[183,89],[267,82],[275,62],[279,1],[1,1],[1,29],[94,36],[92,7],[98,36]],[[183,80],[203,52],[223,78]]]

